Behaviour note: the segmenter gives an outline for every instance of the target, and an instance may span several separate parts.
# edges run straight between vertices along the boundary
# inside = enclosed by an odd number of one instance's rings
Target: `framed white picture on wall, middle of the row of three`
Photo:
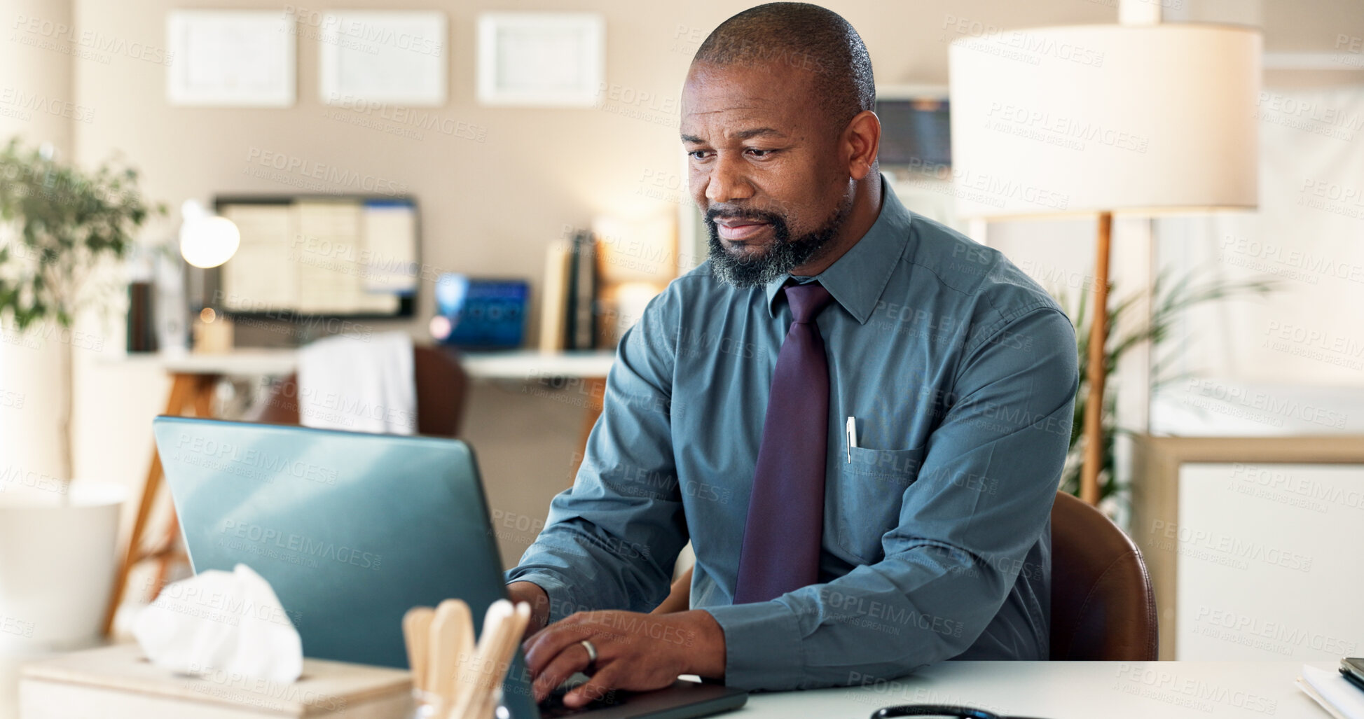
[[[318,42],[322,101],[443,105],[446,16],[441,11],[329,11]]]

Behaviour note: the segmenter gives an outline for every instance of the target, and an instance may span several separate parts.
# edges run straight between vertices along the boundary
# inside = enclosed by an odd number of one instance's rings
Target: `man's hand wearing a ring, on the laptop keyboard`
[[[589,667],[588,640],[597,651]],[[679,674],[724,677],[724,630],[702,610],[675,614],[580,611],[535,633],[521,645],[542,701],[576,671],[591,681],[565,694],[578,708],[611,689],[662,689]]]

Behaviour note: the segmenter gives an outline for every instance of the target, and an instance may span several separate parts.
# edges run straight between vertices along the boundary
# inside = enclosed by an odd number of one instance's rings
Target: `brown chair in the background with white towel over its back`
[[[438,347],[412,348],[412,379],[417,389],[417,434],[456,437],[464,417],[469,378],[454,351]],[[271,389],[256,422],[299,423],[299,375],[291,374]]]

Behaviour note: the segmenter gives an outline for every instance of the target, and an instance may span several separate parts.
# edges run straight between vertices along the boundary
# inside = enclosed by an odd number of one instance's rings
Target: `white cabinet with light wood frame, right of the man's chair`
[[[1364,437],[1136,441],[1161,659],[1364,655]]]

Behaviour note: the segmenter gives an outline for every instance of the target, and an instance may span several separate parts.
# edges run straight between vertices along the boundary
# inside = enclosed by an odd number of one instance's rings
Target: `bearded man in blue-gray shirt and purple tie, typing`
[[[507,572],[536,697],[698,674],[745,689],[1045,659],[1073,329],[998,252],[877,168],[866,48],[773,3],[720,25],[682,96],[711,258],[621,341],[572,490]],[[690,539],[690,611],[668,593]],[[550,623],[554,622],[554,623]]]

